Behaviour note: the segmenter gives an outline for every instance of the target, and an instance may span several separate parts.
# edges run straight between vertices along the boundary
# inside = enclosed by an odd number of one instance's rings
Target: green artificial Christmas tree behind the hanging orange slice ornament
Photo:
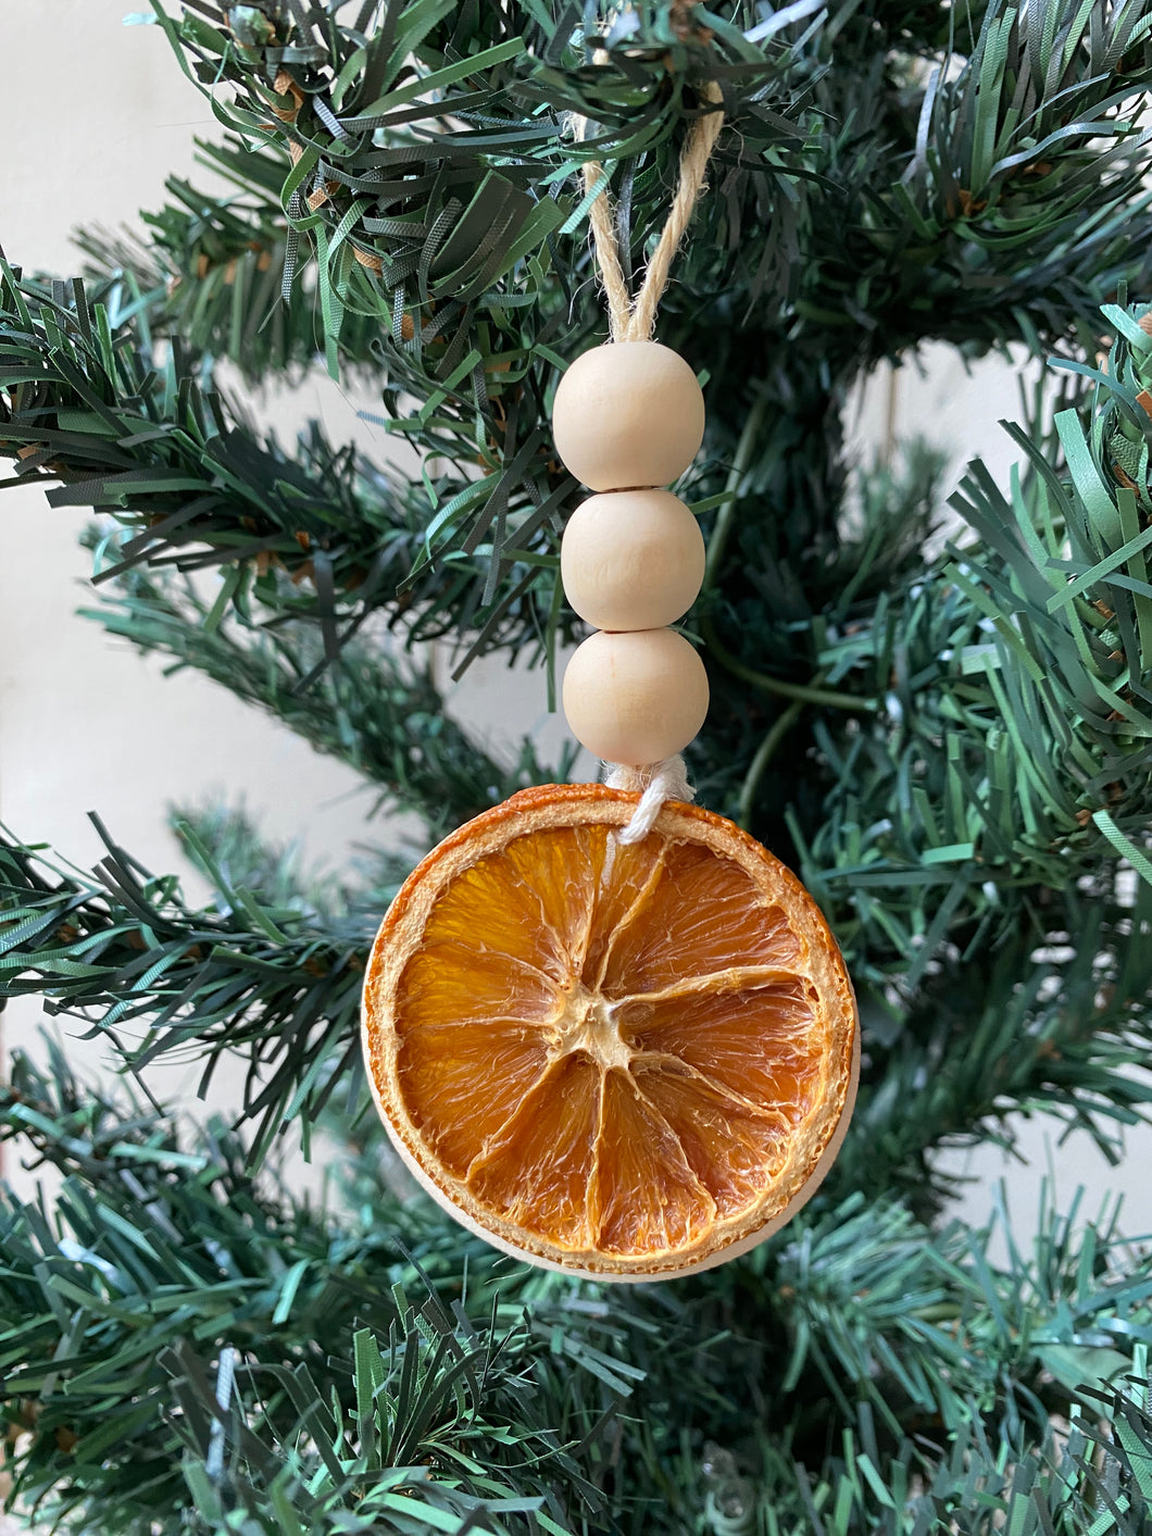
[[[241,190],[174,184],[146,243],[84,237],[83,281],[3,267],[0,449],[104,515],[108,631],[275,711],[429,845],[568,776],[479,750],[419,645],[530,657],[554,693],[584,630],[550,406],[604,341],[588,218],[610,189],[631,283],[722,108],[657,323],[708,413],[676,485],[707,547],[688,766],[819,900],[863,1072],[768,1244],[627,1292],[541,1273],[382,1155],[358,1009],[402,857],[312,889],[201,817],[197,908],[111,834],[91,876],[9,836],[5,994],[143,1084],[14,1055],[3,1132],[66,1174],[0,1215],[14,1498],[109,1533],[1147,1531],[1146,1252],[1044,1212],[994,1264],[991,1198],[948,1221],[934,1154],[1040,1106],[1111,1146],[1147,1101],[1152,5],[157,20]],[[931,456],[854,476],[843,445],[854,381],[931,338],[1060,364],[1020,473],[974,464],[946,536]],[[217,387],[318,352],[376,381],[419,475],[318,430],[289,450]],[[238,1127],[178,1141],[143,1097],[175,1052],[246,1074]],[[260,1172],[315,1127],[324,1207]]]

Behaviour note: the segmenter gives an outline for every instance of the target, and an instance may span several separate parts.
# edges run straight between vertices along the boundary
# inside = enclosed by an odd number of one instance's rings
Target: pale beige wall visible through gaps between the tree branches
[[[69,275],[78,264],[69,246],[74,226],[117,226],[134,221],[140,207],[157,207],[164,177],[194,170],[194,137],[215,132],[163,35],[121,26],[127,3],[0,3],[0,54],[15,61],[6,72],[0,244],[28,270]],[[894,419],[897,435],[919,430],[948,447],[957,479],[977,453],[1005,476],[1011,444],[997,419],[1017,413],[1017,387],[1001,362],[966,375],[954,355],[935,349],[895,381],[885,373],[871,382],[852,406],[854,438],[871,452]],[[284,433],[319,415],[336,441],[372,438],[358,402],[326,379],[263,409]],[[272,839],[298,839],[309,859],[333,869],[356,845],[381,843],[395,831],[369,820],[372,796],[343,765],[210,682],[190,673],[164,679],[158,665],[75,616],[86,598],[88,556],[77,547],[84,513],[52,511],[26,488],[0,498],[0,518],[8,551],[0,564],[0,819],[8,826],[88,866],[100,845],[86,813],[98,809],[114,836],[157,871],[178,868],[166,808],[207,797],[243,799]],[[545,714],[542,677],[502,665],[470,671],[452,707],[496,746],[521,728],[541,731],[550,745],[564,734]],[[37,1008],[9,1009],[8,1044],[37,1049]],[[95,1069],[98,1046],[80,1043],[68,1023],[63,1032],[69,1052]],[[157,1089],[187,1094],[195,1075],[184,1069]],[[988,1146],[949,1152],[948,1166],[971,1180],[962,1213],[982,1221],[991,1184],[1003,1177],[1028,1230],[1051,1167],[1063,1204],[1080,1183],[1089,1213],[1104,1190],[1126,1190],[1127,1229],[1152,1230],[1152,1134],[1129,1137],[1118,1169],[1083,1134],[1057,1144],[1058,1134],[1052,1121],[1025,1126],[1026,1164],[1009,1164]],[[6,1174],[28,1189],[11,1155]]]

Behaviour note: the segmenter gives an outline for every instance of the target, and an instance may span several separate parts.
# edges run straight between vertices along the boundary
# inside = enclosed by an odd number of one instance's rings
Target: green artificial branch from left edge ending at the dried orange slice
[[[78,1017],[141,1072],[158,1055],[203,1057],[206,1089],[243,1052],[241,1118],[266,1155],[295,1117],[306,1129],[358,1058],[359,991],[373,925],[330,926],[306,906],[233,888],[183,828],[186,852],[220,892],[184,903],[97,822],[108,856],[94,876],[0,843],[0,997],[41,997]]]

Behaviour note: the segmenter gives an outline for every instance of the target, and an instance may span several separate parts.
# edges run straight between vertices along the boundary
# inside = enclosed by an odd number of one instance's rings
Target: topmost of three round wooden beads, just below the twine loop
[[[668,485],[703,441],[703,395],[659,341],[616,341],[576,358],[551,409],[556,452],[593,490]]]

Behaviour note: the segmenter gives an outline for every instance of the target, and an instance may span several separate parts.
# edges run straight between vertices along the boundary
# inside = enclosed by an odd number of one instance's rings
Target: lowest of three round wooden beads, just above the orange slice
[[[639,768],[684,751],[700,730],[708,674],[676,630],[599,631],[568,662],[564,713],[596,757]]]

